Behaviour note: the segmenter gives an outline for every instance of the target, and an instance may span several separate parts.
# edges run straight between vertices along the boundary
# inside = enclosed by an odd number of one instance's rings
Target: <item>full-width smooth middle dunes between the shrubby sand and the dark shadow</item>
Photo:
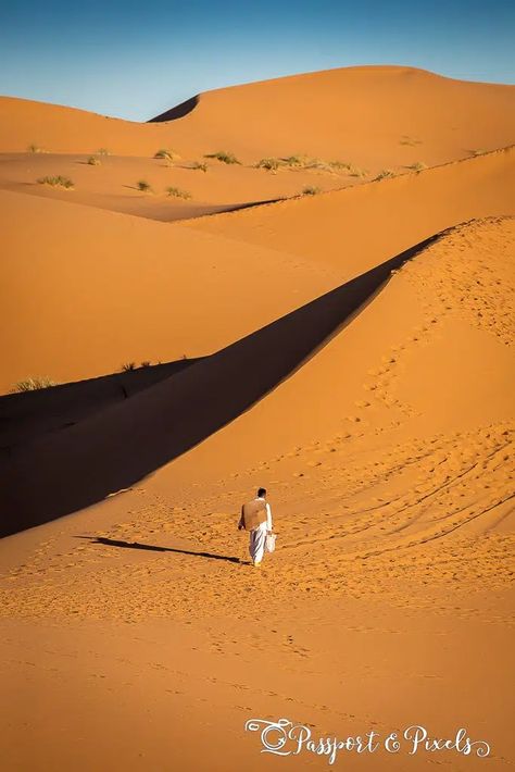
[[[508,149],[178,228],[1,192],[11,345],[0,388],[28,375],[62,382],[209,353],[434,233],[513,212],[514,159]],[[260,302],[249,303],[255,292]]]

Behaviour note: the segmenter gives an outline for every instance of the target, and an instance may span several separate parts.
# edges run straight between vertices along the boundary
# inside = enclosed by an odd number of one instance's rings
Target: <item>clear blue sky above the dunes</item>
[[[134,121],[353,64],[515,83],[513,0],[0,0],[0,94]]]

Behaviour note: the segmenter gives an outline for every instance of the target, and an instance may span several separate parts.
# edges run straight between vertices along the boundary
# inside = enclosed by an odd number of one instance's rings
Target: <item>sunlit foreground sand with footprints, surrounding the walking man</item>
[[[53,710],[28,719],[50,765],[88,769],[100,749],[101,769],[116,759],[145,770],[163,757],[193,770],[265,769],[242,726],[284,715],[317,735],[415,722],[448,736],[466,725],[492,744],[491,769],[505,767],[514,245],[512,219],[451,231],[196,450],[123,496],[3,541],[4,677],[16,706],[4,742],[18,769],[34,764],[20,743],[20,683],[54,695]],[[234,524],[263,483],[280,550],[256,576],[239,562]],[[43,656],[30,644],[34,620],[47,630]],[[77,758],[72,738],[98,733],[120,695],[110,742]],[[166,719],[178,713],[180,734]],[[59,750],[52,715],[66,717]],[[479,762],[452,757],[456,770]],[[360,768],[399,760],[360,758]]]

